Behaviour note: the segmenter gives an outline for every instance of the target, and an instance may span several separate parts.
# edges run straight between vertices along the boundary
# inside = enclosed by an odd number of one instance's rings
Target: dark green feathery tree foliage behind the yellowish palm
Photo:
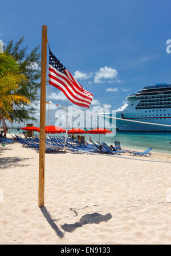
[[[25,75],[27,81],[20,83],[17,93],[35,102],[38,99],[38,92],[40,87],[40,52],[39,46],[36,46],[28,54],[28,46],[23,47],[24,37],[18,42],[11,40],[5,47],[5,52],[14,57],[19,65],[19,71]],[[14,111],[10,117],[13,121],[23,122],[28,119],[36,120],[34,117],[36,109],[30,107],[27,102],[18,102],[14,105]]]

